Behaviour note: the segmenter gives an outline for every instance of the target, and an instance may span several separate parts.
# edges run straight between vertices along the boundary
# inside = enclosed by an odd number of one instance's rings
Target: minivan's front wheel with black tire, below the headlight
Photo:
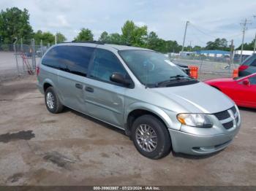
[[[146,132],[146,129],[151,135]],[[144,134],[141,133],[143,130]],[[145,136],[145,133],[149,137]],[[141,155],[151,159],[159,159],[170,153],[171,141],[167,128],[157,117],[150,114],[138,117],[133,122],[132,141]]]

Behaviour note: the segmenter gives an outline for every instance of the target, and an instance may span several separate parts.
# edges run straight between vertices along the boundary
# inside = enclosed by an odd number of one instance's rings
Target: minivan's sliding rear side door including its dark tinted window
[[[58,50],[59,61],[66,66],[58,75],[64,105],[83,113],[86,113],[83,100],[86,75],[93,52],[94,44],[91,47],[64,45]]]

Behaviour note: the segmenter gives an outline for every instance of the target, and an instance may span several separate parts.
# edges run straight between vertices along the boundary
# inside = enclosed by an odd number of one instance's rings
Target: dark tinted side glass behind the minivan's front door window
[[[58,46],[53,47],[42,63],[53,68],[59,68],[72,74],[86,76],[93,47]]]

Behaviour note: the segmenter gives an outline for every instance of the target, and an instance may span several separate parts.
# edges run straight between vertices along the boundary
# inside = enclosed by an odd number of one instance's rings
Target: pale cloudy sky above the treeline
[[[80,28],[89,28],[98,39],[102,31],[121,33],[126,20],[148,26],[162,39],[182,44],[186,20],[187,42],[206,45],[216,37],[241,44],[241,21],[247,18],[245,42],[256,33],[256,0],[0,0],[0,9],[29,9],[34,31],[60,31],[71,41]],[[198,30],[199,29],[199,30]]]

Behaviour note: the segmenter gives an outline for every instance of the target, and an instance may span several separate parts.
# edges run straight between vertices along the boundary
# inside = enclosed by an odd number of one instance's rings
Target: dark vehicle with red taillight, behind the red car
[[[239,77],[246,77],[254,73],[256,73],[256,53],[246,58],[238,68]]]

